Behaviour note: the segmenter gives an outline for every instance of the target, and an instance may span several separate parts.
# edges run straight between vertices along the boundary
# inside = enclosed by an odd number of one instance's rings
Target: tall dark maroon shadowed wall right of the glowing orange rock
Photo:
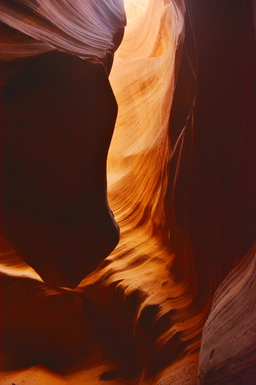
[[[193,33],[185,34],[171,112],[170,137],[176,149],[170,160],[174,175],[169,178],[166,213],[175,251],[184,258],[191,253],[195,260],[199,290],[211,286],[215,291],[255,236],[253,13],[251,2],[236,7],[191,2],[189,9]],[[193,84],[195,76],[196,98],[192,94],[189,99],[190,91],[182,103],[184,79]],[[185,108],[183,118],[179,105]]]

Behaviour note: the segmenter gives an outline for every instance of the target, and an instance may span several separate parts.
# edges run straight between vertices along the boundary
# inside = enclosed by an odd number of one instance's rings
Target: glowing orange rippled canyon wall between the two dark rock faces
[[[204,319],[204,311],[197,311],[193,305],[187,282],[170,273],[174,255],[163,208],[170,153],[168,116],[183,8],[153,1],[147,12],[147,18],[136,19],[136,28],[135,21],[127,23],[110,75],[119,114],[108,157],[108,197],[121,236],[119,245],[107,259],[109,265],[90,277],[94,284],[99,279],[108,285],[118,282],[126,298],[137,293],[141,305],[133,315],[133,328],[144,355],[146,383],[185,352],[187,360],[189,354],[195,354]],[[129,42],[139,25],[147,30],[148,24],[152,24],[150,12],[159,17],[156,18],[159,32],[151,42],[152,50],[147,51],[148,57],[144,57],[146,51],[140,47],[144,34],[136,37],[138,48],[130,43],[129,49]],[[83,284],[87,282],[90,280]]]

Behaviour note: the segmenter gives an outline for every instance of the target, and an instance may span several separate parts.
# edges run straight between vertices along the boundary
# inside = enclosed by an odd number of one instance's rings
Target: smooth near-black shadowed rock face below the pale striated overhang
[[[119,229],[106,200],[117,104],[102,65],[63,52],[21,63],[3,87],[2,234],[41,278],[75,287]]]

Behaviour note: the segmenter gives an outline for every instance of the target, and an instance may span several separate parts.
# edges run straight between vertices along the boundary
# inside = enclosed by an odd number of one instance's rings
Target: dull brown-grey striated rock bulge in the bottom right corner
[[[198,384],[254,384],[256,247],[219,286],[202,337]]]

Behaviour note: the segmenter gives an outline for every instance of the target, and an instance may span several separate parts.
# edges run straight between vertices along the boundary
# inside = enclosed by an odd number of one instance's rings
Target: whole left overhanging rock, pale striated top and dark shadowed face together
[[[117,117],[107,74],[123,36],[123,7],[1,7],[2,235],[45,282],[76,287],[119,241],[106,198]]]

